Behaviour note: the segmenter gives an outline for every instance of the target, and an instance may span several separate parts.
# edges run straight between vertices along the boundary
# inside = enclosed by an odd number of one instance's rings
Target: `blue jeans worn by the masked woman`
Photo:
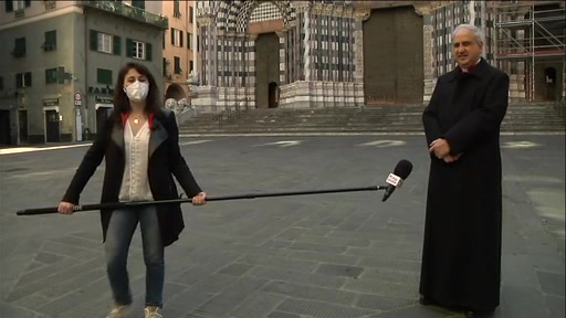
[[[127,272],[128,250],[137,223],[142,230],[144,262],[146,264],[146,306],[163,306],[165,280],[164,244],[155,206],[115,210],[106,232],[106,272],[114,301],[132,304],[132,290]]]

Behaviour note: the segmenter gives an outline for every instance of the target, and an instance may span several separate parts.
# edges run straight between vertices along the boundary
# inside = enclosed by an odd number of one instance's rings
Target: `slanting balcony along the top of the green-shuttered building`
[[[118,1],[77,1],[78,4],[103,10],[109,13],[118,14],[144,23],[149,23],[160,29],[167,30],[169,28],[169,20],[160,14],[148,12],[144,9],[132,7]]]

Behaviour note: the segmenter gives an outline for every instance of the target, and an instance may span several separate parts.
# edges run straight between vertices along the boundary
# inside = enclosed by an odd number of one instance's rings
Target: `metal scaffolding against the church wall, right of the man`
[[[566,76],[564,1],[490,1],[489,8],[495,29],[495,64],[515,80],[512,85],[523,86],[515,87],[514,97],[528,102],[563,100]],[[553,67],[541,71],[546,65]]]

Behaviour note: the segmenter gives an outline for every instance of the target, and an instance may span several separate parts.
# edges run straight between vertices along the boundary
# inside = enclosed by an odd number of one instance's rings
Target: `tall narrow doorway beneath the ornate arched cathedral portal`
[[[279,36],[275,32],[260,34],[255,40],[255,108],[276,107],[279,87]],[[275,92],[273,88],[273,92]]]

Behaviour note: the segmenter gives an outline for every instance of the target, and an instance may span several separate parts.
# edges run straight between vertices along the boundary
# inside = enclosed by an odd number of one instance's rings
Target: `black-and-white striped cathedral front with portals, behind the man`
[[[196,2],[201,110],[426,104],[461,23],[483,30],[512,103],[565,98],[564,1]]]

